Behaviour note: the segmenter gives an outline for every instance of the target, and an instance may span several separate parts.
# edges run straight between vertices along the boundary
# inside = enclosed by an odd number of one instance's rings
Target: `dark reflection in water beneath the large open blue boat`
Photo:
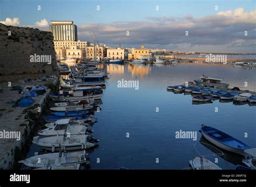
[[[215,145],[213,145],[213,143],[211,143],[210,141],[206,140],[204,138],[203,135],[201,135],[201,138],[199,140],[199,142],[207,147],[208,149],[210,149],[213,153],[219,153],[218,149],[221,150],[221,152],[223,152],[225,154],[225,156],[220,156],[221,158],[223,158],[224,160],[227,160],[228,162],[234,164],[234,165],[244,165],[242,163],[242,159],[243,159],[243,156],[241,155],[238,155],[238,154],[234,154],[234,153],[231,153],[231,152],[228,152],[224,149],[221,149],[221,148],[216,148]],[[210,145],[210,146],[209,146]]]

